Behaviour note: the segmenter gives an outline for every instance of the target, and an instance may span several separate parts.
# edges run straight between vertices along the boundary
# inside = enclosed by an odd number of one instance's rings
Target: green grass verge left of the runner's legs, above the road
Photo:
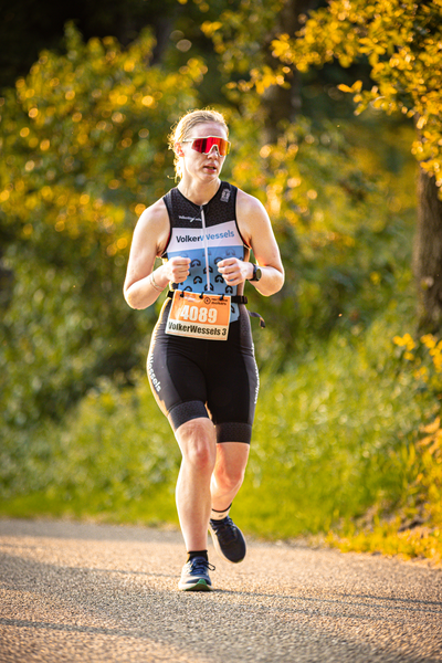
[[[103,380],[63,425],[11,432],[2,460],[3,515],[177,522],[179,450],[145,379],[123,391]]]

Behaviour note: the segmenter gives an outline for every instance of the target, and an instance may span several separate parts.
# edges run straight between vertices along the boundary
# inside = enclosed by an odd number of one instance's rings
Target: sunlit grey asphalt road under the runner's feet
[[[0,662],[442,662],[442,570],[250,543],[179,592],[181,536],[0,519]]]

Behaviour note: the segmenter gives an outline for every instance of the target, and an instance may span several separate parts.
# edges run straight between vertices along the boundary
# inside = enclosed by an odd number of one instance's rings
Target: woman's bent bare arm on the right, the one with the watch
[[[239,190],[236,219],[241,234],[253,249],[256,264],[261,269],[260,281],[251,281],[251,284],[262,295],[270,296],[277,293],[284,285],[284,267],[264,206],[253,196]],[[218,269],[224,281],[232,286],[253,277],[253,264],[235,257],[221,261],[218,263]]]

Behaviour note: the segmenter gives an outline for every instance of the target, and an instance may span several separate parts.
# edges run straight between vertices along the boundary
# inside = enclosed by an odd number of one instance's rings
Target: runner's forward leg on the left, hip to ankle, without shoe
[[[152,334],[147,372],[155,399],[168,418],[182,454],[176,498],[186,549],[206,550],[217,439],[204,406],[204,347],[199,339],[165,334],[167,311],[166,304]]]

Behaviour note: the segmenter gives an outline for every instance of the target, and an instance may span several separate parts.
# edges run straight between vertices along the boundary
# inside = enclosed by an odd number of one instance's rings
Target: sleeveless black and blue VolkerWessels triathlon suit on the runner
[[[152,334],[147,373],[158,406],[175,431],[191,419],[209,417],[217,442],[250,444],[259,391],[250,318],[241,302],[243,284],[228,285],[217,269],[227,257],[249,260],[250,248],[236,222],[236,191],[221,182],[214,197],[201,207],[178,188],[164,198],[170,235],[161,257],[191,261],[189,276],[171,284],[172,291],[229,295],[231,316],[227,340],[171,335],[166,332],[171,307],[168,297]]]

